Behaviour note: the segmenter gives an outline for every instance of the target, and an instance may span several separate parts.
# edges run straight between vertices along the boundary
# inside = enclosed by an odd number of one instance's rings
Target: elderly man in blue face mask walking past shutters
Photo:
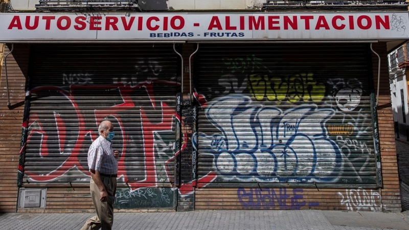
[[[113,199],[117,189],[118,151],[112,150],[115,135],[110,121],[98,127],[99,137],[88,150],[88,167],[91,174],[90,192],[97,215],[88,219],[81,230],[111,229],[113,224]]]

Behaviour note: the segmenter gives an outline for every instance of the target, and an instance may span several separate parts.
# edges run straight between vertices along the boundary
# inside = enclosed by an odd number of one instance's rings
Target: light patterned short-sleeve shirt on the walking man
[[[88,167],[103,174],[118,173],[118,162],[113,156],[112,143],[102,136],[89,147]]]

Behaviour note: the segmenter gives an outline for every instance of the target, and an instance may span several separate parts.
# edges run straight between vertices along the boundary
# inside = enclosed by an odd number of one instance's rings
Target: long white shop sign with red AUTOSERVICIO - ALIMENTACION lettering
[[[409,38],[408,13],[3,13],[0,21],[0,42]]]

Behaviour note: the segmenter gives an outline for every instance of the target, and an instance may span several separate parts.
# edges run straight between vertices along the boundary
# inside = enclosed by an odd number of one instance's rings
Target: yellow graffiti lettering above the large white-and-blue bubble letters
[[[285,99],[291,103],[299,101],[320,102],[325,97],[325,85],[316,82],[313,74],[297,74],[287,78],[268,78],[268,75],[252,74],[248,77],[249,90],[258,101],[267,98],[280,104]]]

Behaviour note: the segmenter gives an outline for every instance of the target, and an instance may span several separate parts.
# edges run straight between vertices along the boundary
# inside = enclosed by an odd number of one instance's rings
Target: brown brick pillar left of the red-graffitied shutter
[[[10,104],[7,106],[6,68],[0,80],[0,212],[15,212],[17,204],[17,171],[24,114],[29,45],[15,44],[7,57]],[[5,48],[5,54],[11,45]]]

